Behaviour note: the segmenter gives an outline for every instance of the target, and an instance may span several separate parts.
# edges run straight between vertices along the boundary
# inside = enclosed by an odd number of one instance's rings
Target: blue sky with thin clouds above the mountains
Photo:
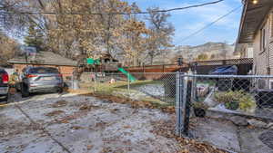
[[[215,0],[127,0],[130,4],[136,2],[136,5],[138,5],[142,11],[148,7],[158,6],[160,9],[170,9],[212,1]],[[171,17],[169,17],[168,22],[173,24],[176,28],[173,43],[175,45],[199,45],[208,42],[235,43],[238,37],[242,7],[201,33],[197,33],[185,41],[182,40],[240,5],[242,5],[241,0],[225,0],[216,5],[206,5],[171,12]]]

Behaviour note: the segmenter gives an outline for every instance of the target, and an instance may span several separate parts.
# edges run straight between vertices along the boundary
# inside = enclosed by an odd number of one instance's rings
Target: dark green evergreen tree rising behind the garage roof
[[[42,31],[34,23],[31,23],[28,27],[24,43],[29,47],[35,47],[36,51],[39,52],[42,50],[43,36]]]

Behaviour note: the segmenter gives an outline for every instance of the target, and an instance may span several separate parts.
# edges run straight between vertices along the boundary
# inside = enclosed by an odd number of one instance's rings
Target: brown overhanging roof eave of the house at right
[[[244,9],[238,33],[238,43],[253,43],[259,25],[262,24],[272,8],[273,1],[258,0],[258,4],[254,4],[252,0],[243,0],[243,3]]]

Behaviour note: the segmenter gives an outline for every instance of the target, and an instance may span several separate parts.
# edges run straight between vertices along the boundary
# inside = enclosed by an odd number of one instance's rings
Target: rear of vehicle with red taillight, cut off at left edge
[[[0,98],[3,100],[8,99],[8,73],[0,68]]]

